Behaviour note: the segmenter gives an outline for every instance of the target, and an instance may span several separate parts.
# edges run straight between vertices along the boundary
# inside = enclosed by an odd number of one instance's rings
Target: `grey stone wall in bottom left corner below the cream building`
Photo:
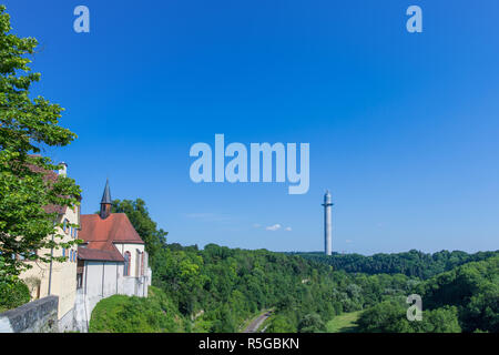
[[[57,333],[58,296],[47,296],[0,313],[0,333]]]

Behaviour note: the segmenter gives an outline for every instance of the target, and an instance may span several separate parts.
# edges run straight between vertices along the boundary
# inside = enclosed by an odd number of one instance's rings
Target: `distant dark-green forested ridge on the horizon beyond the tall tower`
[[[310,261],[333,266],[334,270],[343,270],[348,273],[374,274],[404,274],[422,280],[450,271],[456,266],[486,260],[499,255],[499,251],[478,252],[468,254],[460,251],[441,251],[434,254],[411,250],[405,253],[374,254],[365,256],[360,254],[324,255],[322,253],[287,253],[299,255]]]

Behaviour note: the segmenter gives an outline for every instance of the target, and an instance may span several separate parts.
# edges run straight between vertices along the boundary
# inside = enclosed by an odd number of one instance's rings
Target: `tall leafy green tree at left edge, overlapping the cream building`
[[[52,260],[50,253],[35,251],[78,242],[61,243],[58,214],[44,207],[74,207],[80,187],[69,178],[48,179],[48,171],[59,166],[35,155],[47,146],[68,145],[77,135],[58,124],[60,105],[42,97],[30,98],[30,87],[40,73],[31,71],[27,57],[34,53],[38,42],[10,32],[10,17],[0,6],[0,283],[13,286],[29,267],[24,260]]]

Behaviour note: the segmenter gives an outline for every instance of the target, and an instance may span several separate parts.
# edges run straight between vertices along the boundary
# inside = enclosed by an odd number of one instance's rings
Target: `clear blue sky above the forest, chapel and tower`
[[[109,178],[170,242],[319,251],[329,189],[334,251],[499,248],[497,0],[0,2],[40,41],[33,94],[79,134],[50,154],[83,213]],[[79,4],[90,33],[73,31]],[[410,4],[422,33],[406,31]],[[194,184],[189,150],[215,133],[310,143],[309,192]]]

